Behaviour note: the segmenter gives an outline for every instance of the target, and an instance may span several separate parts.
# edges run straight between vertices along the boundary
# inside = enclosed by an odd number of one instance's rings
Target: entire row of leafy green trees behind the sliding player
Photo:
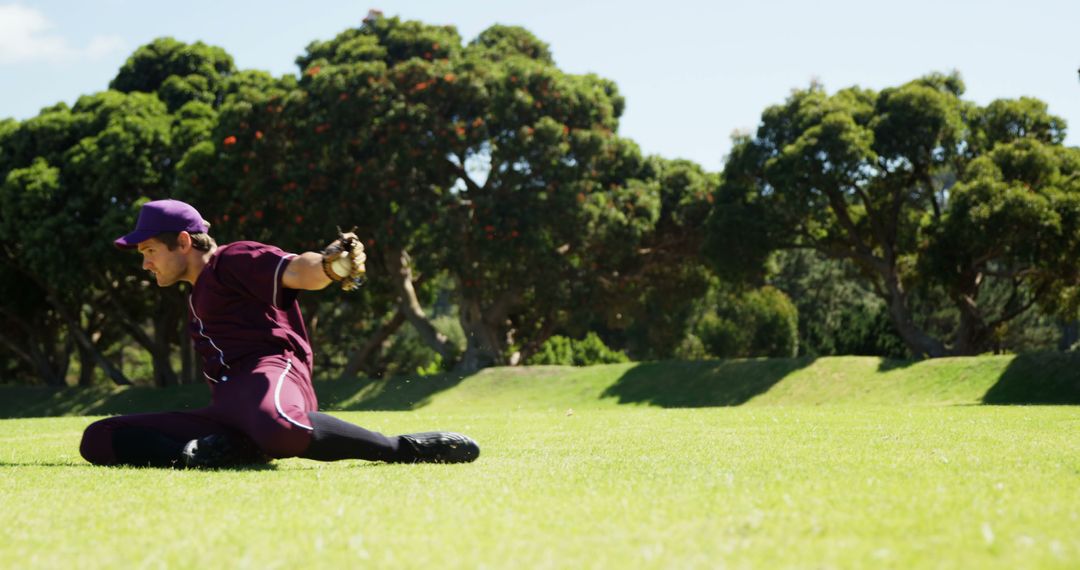
[[[218,243],[356,227],[368,285],[300,297],[323,375],[1044,350],[1080,312],[1080,149],[1037,99],[814,84],[720,175],[643,154],[618,86],[524,28],[370,16],[296,64],[160,38],[0,119],[0,381],[202,381],[186,286],[112,246],[164,198]]]

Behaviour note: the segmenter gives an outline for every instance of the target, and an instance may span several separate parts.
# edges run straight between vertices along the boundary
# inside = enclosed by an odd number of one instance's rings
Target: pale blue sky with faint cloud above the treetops
[[[220,45],[241,68],[294,73],[312,40],[368,9],[457,26],[528,28],[561,68],[615,80],[620,133],[648,153],[723,165],[735,130],[813,79],[881,89],[959,70],[967,97],[1038,97],[1080,145],[1080,0],[0,0],[0,118],[107,87],[160,36]]]

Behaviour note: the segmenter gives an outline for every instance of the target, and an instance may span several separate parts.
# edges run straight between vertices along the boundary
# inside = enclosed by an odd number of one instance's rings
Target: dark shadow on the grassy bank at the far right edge
[[[983,404],[1080,404],[1080,353],[1018,354],[983,395]]]

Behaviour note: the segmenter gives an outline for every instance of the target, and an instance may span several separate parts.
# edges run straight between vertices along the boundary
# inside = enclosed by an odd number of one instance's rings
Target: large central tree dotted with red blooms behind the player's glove
[[[596,208],[625,208],[625,220],[648,198],[624,184],[643,159],[615,136],[615,85],[559,71],[523,29],[462,46],[453,27],[373,17],[297,63],[299,89],[281,103],[296,178],[282,182],[359,223],[373,281],[388,276],[396,311],[463,369],[505,362],[511,339],[551,336],[593,271],[581,229],[619,219]],[[460,358],[416,290],[444,270],[465,331]]]

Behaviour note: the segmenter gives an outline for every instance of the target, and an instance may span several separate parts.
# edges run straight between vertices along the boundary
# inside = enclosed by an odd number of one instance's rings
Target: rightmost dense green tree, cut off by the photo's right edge
[[[997,144],[968,165],[941,223],[927,231],[923,271],[959,310],[958,353],[993,349],[1037,304],[1077,314],[1080,151],[1059,142],[1027,135]]]

